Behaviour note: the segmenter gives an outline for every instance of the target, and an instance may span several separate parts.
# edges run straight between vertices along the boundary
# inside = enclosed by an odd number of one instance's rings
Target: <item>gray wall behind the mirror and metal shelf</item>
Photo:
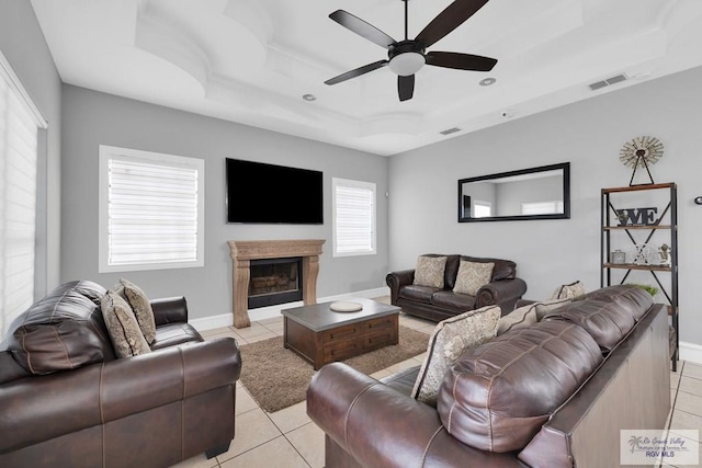
[[[702,195],[700,83],[702,68],[392,157],[390,267],[412,267],[424,252],[494,255],[517,262],[529,298],[545,298],[575,279],[588,290],[599,287],[600,189],[629,184],[631,169],[619,161],[619,150],[636,136],[652,135],[665,144],[652,169],[655,181],[678,184],[680,338],[702,344],[702,207],[692,202]],[[457,179],[565,161],[570,219],[456,221]],[[650,275],[643,281],[655,284]]]

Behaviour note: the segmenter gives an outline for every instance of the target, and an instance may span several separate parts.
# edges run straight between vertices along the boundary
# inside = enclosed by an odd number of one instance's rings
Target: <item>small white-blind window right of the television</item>
[[[332,179],[333,256],[375,254],[375,184]]]

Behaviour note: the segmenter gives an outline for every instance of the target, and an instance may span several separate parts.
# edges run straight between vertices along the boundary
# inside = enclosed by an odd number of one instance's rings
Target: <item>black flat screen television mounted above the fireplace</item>
[[[320,171],[226,158],[227,222],[324,224]]]

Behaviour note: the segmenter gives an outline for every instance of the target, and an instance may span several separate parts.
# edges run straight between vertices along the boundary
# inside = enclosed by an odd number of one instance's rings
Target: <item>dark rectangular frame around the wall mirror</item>
[[[494,179],[503,179],[517,175],[533,174],[554,170],[563,171],[563,213],[548,215],[514,215],[514,216],[490,216],[472,218],[469,213],[465,213],[463,204],[463,184],[466,182],[486,182]],[[483,221],[516,221],[523,219],[569,219],[570,218],[570,163],[541,165],[537,168],[522,169],[519,171],[500,172],[497,174],[480,175],[458,180],[458,222],[483,222]]]

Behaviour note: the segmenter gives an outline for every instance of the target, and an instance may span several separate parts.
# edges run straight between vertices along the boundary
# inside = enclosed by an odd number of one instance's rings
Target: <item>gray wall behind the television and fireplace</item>
[[[184,295],[191,318],[231,310],[228,240],[326,239],[317,295],[374,289],[387,273],[387,164],[372,156],[302,138],[64,87],[61,281],[88,278],[106,287],[121,276],[150,297]],[[110,145],[205,160],[205,267],[98,273],[98,147]],[[225,158],[233,157],[324,172],[321,226],[225,222]],[[332,258],[331,178],[375,182],[377,254]],[[256,181],[252,181],[256,183]]]

